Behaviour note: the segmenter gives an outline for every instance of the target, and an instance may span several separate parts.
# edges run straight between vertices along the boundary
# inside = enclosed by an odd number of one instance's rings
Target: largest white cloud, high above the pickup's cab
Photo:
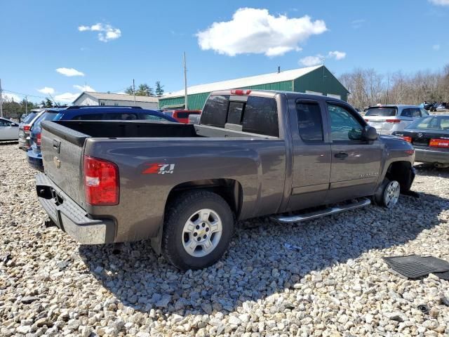
[[[271,15],[267,9],[239,8],[232,20],[213,22],[196,37],[204,51],[213,50],[229,56],[244,53],[276,56],[300,51],[301,42],[326,30],[323,20],[312,21],[307,15],[288,18]]]

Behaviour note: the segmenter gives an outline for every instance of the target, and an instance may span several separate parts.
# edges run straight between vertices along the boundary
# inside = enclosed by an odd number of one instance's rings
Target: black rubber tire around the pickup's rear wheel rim
[[[183,245],[183,229],[187,220],[201,209],[210,209],[220,217],[222,232],[215,248],[206,256],[196,257],[187,253]],[[234,233],[234,213],[218,194],[199,190],[180,194],[166,210],[163,225],[162,254],[169,263],[180,270],[197,270],[213,265],[227,250]]]

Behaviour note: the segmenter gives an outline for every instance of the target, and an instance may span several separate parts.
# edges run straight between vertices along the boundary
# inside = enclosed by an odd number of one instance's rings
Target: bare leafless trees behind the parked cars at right
[[[349,104],[360,110],[377,104],[412,104],[449,101],[449,64],[435,72],[381,74],[357,68],[340,76],[349,91]]]

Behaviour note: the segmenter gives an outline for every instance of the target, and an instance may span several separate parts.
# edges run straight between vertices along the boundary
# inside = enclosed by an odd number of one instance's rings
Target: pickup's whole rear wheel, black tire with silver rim
[[[181,270],[213,265],[234,232],[234,215],[218,194],[194,191],[170,203],[163,226],[162,253]]]

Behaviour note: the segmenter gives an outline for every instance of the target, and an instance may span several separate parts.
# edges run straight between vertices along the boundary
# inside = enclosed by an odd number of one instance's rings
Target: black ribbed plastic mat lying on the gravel
[[[391,256],[384,258],[384,261],[392,270],[409,279],[417,279],[430,273],[441,273],[438,277],[442,279],[449,277],[449,262],[433,256]]]

